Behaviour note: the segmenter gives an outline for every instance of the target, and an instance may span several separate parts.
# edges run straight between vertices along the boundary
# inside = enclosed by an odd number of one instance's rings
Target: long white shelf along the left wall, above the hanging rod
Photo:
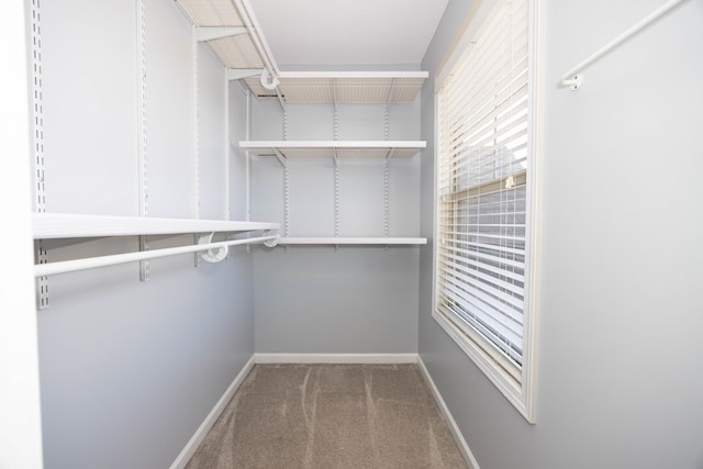
[[[34,239],[232,233],[279,230],[279,223],[34,213]]]

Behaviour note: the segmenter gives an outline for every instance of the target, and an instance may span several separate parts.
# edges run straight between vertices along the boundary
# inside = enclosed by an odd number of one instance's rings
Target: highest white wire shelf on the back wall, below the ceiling
[[[287,103],[411,103],[427,76],[426,71],[281,71],[278,90]],[[278,99],[258,76],[245,81],[260,100]]]

